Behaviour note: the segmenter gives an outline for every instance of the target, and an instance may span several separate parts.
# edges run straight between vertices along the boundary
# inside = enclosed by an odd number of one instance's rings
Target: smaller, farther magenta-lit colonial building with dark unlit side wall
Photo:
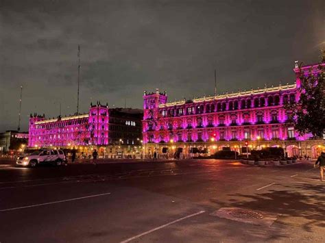
[[[91,104],[88,114],[47,119],[34,114],[29,118],[29,147],[79,146],[115,153],[112,148],[141,146],[142,110]]]

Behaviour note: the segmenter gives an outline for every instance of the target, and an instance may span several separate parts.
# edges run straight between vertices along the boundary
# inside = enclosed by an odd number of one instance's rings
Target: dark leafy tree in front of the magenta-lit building
[[[303,135],[312,133],[322,137],[325,132],[325,82],[324,67],[319,65],[317,72],[304,73],[300,69],[301,86],[298,102],[289,102],[286,107],[292,112],[295,129]]]

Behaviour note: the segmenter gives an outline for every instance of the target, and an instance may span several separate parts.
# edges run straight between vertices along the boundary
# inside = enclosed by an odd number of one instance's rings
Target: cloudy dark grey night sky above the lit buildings
[[[0,131],[30,113],[76,112],[91,101],[142,107],[143,90],[169,101],[293,83],[293,64],[320,60],[324,1],[0,0]]]

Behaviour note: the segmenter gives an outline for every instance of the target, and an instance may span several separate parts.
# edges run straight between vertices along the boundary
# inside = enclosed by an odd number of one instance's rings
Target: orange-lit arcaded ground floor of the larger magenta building
[[[244,141],[217,141],[217,142],[169,142],[169,143],[149,143],[144,144],[143,150],[147,157],[152,157],[154,151],[158,157],[173,157],[176,151],[181,152],[184,158],[195,156],[193,152],[197,148],[199,151],[206,151],[204,156],[213,155],[217,151],[231,150],[242,154],[245,151]],[[317,158],[320,153],[325,152],[324,140],[268,140],[268,141],[248,141],[249,151],[251,149],[261,150],[265,147],[282,148],[288,157],[310,157]],[[243,149],[244,148],[244,149]],[[197,150],[196,150],[197,151]]]

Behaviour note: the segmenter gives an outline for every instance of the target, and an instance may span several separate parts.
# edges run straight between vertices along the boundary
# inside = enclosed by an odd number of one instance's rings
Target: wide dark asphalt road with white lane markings
[[[324,192],[311,163],[2,164],[0,242],[325,242]]]

